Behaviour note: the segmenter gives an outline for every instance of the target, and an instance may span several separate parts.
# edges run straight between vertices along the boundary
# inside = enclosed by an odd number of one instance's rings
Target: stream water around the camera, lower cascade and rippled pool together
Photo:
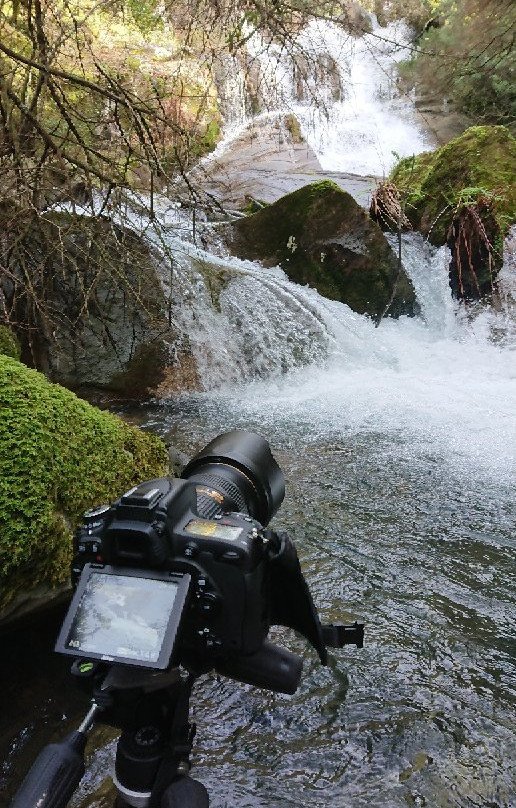
[[[514,265],[497,310],[466,311],[451,299],[445,251],[407,237],[422,316],[375,328],[278,269],[174,233],[169,283],[182,290],[177,314],[206,391],[124,415],[188,456],[229,429],[266,437],[287,481],[274,524],[296,541],[323,620],[366,623],[364,648],[332,652],[327,668],[292,633],[274,632],[305,658],[294,696],[214,676],[198,683],[194,772],[212,808],[509,808]],[[67,664],[41,664],[37,706],[27,685],[7,708],[15,735],[0,737],[10,738],[4,782],[81,709]],[[108,804],[87,795],[113,741],[93,740],[74,806]]]

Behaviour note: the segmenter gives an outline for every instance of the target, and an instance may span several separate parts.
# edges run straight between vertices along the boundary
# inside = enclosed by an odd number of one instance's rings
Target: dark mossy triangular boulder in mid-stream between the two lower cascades
[[[375,319],[415,314],[412,283],[379,226],[330,180],[306,185],[232,223],[239,258],[280,265],[290,280]]]

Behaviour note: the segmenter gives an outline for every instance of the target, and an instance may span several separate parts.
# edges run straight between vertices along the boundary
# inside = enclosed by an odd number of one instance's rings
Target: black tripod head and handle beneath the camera
[[[195,676],[111,668],[78,660],[74,673],[93,684],[93,704],[80,727],[46,746],[11,808],[65,808],[84,775],[87,734],[100,721],[122,730],[113,782],[130,808],[208,808],[208,792],[190,777],[195,725],[188,720]],[[82,670],[81,670],[82,668]],[[89,682],[88,682],[89,680]]]

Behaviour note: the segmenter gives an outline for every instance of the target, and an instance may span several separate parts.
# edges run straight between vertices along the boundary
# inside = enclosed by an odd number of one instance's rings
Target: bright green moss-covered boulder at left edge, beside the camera
[[[0,623],[67,585],[85,509],[166,473],[167,459],[159,438],[0,356]]]

